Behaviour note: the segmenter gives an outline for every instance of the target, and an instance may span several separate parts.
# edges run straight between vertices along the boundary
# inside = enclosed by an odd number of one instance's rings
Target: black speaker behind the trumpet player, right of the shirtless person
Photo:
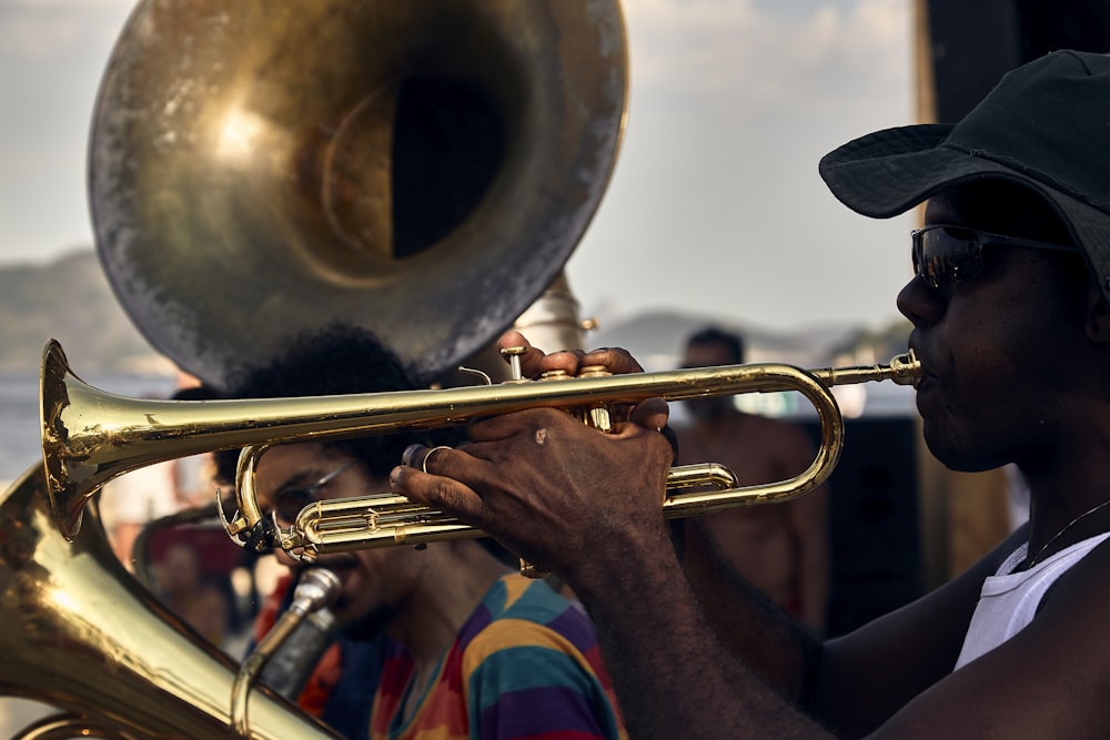
[[[806,428],[817,444],[817,423]],[[830,637],[922,594],[917,435],[909,417],[845,420],[844,450],[828,481]]]

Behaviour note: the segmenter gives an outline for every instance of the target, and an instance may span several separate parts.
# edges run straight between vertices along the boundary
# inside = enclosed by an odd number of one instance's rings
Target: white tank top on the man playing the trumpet
[[[963,649],[956,661],[959,670],[985,652],[993,650],[1021,631],[1037,616],[1045,594],[1056,579],[1094,549],[1110,533],[1102,533],[1060,550],[1035,568],[1011,572],[1029,550],[1026,543],[1006,558],[998,572],[982,582]]]

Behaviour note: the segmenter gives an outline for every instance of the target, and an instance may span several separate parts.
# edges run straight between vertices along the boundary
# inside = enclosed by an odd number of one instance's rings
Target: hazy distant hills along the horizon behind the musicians
[[[719,316],[676,311],[598,320],[599,328],[587,336],[587,345],[625,347],[647,369],[677,366],[686,337],[710,324],[744,334],[750,362],[803,366],[886,361],[905,352],[908,334],[908,326],[899,323],[882,332],[851,326],[767,332]],[[91,249],[46,265],[0,267],[0,372],[37,373],[42,347],[51,337],[61,342],[79,375],[173,372],[170,361],[150,346],[117,302]]]

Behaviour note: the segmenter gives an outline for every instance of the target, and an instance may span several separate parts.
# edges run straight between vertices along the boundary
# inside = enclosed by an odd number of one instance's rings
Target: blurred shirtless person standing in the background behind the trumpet
[[[736,334],[706,328],[686,344],[685,367],[738,365],[744,343]],[[678,462],[720,463],[744,486],[785,480],[805,470],[814,446],[805,432],[765,416],[745,414],[731,396],[686,402],[694,422],[676,429]],[[828,601],[828,496],[823,486],[775,506],[741,506],[686,523],[684,566],[706,574],[704,524],[709,547],[791,617],[816,631],[825,626]]]

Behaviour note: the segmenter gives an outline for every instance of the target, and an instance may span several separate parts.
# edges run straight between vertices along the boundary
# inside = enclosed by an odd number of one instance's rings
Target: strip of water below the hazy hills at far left
[[[111,375],[82,378],[98,388],[133,397],[168,398],[173,377]],[[0,374],[0,483],[8,483],[42,460],[38,375]]]

